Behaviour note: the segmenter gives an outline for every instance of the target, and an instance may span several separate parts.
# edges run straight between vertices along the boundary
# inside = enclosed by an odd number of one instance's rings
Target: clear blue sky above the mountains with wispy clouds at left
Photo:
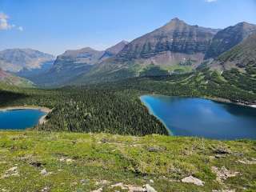
[[[256,0],[0,0],[0,50],[50,54],[131,41],[178,17],[191,25],[256,24]]]

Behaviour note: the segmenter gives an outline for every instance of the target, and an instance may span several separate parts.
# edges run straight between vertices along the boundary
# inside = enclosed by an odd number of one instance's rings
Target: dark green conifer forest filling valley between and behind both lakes
[[[196,73],[130,78],[122,82],[56,90],[21,89],[1,86],[1,106],[47,106],[53,111],[37,130],[106,132],[111,134],[168,134],[158,119],[139,100],[142,94],[224,98],[246,105],[255,104],[256,94],[227,82],[206,67]]]

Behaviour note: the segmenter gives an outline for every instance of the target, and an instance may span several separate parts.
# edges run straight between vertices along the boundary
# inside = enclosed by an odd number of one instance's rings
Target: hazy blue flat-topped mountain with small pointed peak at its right
[[[40,86],[59,86],[68,84],[80,74],[86,74],[96,63],[113,57],[126,46],[122,41],[107,50],[94,50],[90,47],[81,50],[67,50],[57,57],[54,66],[46,73],[30,78]]]

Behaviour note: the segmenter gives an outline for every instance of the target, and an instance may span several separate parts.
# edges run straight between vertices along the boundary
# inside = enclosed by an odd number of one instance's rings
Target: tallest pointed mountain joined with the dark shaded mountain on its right
[[[130,42],[116,56],[98,63],[75,79],[74,84],[192,71],[255,32],[256,26],[246,22],[218,30],[190,26],[174,18],[158,30]]]

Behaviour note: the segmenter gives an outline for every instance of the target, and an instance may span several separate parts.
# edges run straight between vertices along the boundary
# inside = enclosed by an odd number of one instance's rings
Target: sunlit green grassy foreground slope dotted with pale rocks
[[[255,150],[255,141],[1,131],[0,190],[255,191]],[[181,181],[190,175],[204,185]]]

